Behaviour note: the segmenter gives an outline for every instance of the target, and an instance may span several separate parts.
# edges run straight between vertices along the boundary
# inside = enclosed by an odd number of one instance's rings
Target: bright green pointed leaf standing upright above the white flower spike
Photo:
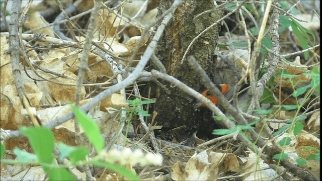
[[[84,111],[79,110],[75,105],[70,105],[78,123],[83,127],[89,141],[93,144],[97,152],[104,148],[104,139],[99,126]]]

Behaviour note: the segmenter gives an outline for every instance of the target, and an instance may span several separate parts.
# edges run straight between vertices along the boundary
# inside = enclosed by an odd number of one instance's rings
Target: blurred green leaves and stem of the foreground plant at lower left
[[[97,152],[100,152],[104,148],[104,142],[98,125],[86,115],[83,111],[77,107],[71,105],[74,111],[75,118],[79,124],[83,127],[88,139],[93,144]],[[85,164],[93,164],[97,166],[104,166],[111,170],[119,172],[130,180],[139,180],[139,177],[133,173],[130,169],[117,165],[114,163],[97,161],[100,158],[91,158],[87,161],[89,155],[88,148],[84,146],[68,146],[59,142],[57,148],[60,152],[58,156],[59,160],[69,158],[69,165],[57,165],[54,163],[54,135],[52,131],[46,127],[21,127],[20,131],[28,137],[30,145],[34,151],[28,153],[19,148],[14,149],[18,160],[1,160],[1,164],[36,164],[41,165],[44,171],[48,174],[49,180],[76,180],[76,178],[68,172],[66,166],[77,166]],[[1,143],[1,158],[5,154],[5,146]]]

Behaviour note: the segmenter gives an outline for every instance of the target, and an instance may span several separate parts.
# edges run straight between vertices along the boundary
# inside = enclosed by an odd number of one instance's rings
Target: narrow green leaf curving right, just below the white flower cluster
[[[140,180],[140,178],[135,173],[133,173],[130,169],[121,165],[103,162],[103,161],[91,161],[90,164],[106,167],[108,169],[117,171],[118,173],[120,173],[121,175],[125,176],[127,179],[130,179],[130,180]]]

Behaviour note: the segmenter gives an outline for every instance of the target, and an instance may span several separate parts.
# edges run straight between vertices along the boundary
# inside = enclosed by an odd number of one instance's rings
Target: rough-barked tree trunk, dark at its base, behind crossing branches
[[[158,16],[168,10],[172,1],[161,1],[158,8]],[[197,15],[207,11],[209,13]],[[180,6],[172,21],[167,25],[163,38],[160,39],[156,56],[165,65],[167,73],[181,80],[195,90],[202,92],[204,86],[195,71],[189,66],[185,59],[181,59],[190,42],[203,30],[212,25],[223,16],[223,9],[215,10],[213,1],[186,1]],[[197,18],[196,18],[197,17]],[[217,45],[220,24],[212,27],[193,43],[187,56],[194,55],[199,64],[204,68],[215,83],[220,83],[214,76],[215,60],[214,52]],[[211,113],[206,109],[196,110],[196,100],[181,92],[180,89],[163,82],[170,89],[167,94],[162,88],[152,84],[152,92],[157,98],[154,111],[158,113],[156,122],[162,124],[160,133],[167,133],[168,139],[176,137],[179,141],[191,136],[198,131],[198,136],[209,137],[214,129],[214,120]],[[169,131],[178,128],[175,131]],[[200,135],[200,133],[202,133]]]

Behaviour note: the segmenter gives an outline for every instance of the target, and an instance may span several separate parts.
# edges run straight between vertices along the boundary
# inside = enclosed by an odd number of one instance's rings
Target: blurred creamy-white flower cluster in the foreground
[[[147,164],[152,165],[162,165],[162,155],[154,153],[143,153],[141,150],[137,149],[132,151],[130,148],[124,148],[123,150],[111,149],[107,152],[101,152],[101,155],[105,161],[115,162],[119,161],[121,165],[140,164],[142,166]]]

